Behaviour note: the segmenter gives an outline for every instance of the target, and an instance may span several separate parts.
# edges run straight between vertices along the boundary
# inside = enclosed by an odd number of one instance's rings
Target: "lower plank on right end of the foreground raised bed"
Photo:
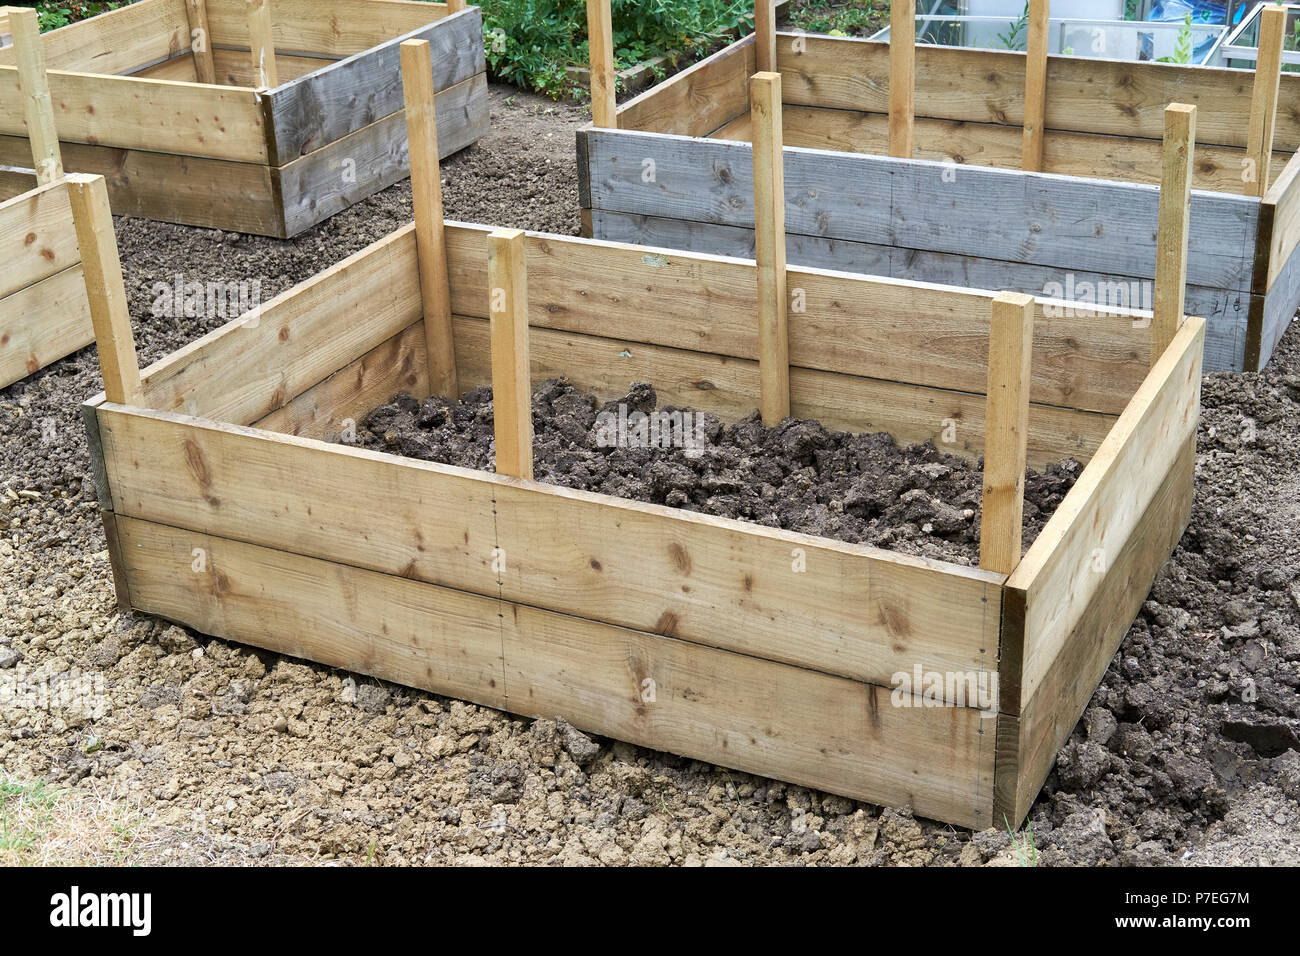
[[[1191,520],[1195,471],[1196,441],[1190,438],[1020,715],[998,717],[997,823],[1017,829],[1034,805],[1057,750],[1074,732]],[[1000,688],[1006,685],[1000,682]]]

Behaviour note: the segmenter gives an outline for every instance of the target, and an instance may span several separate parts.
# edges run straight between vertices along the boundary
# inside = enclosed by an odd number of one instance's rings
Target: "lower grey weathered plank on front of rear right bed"
[[[744,226],[637,216],[606,209],[592,211],[592,226],[593,238],[597,239],[742,259],[754,258],[754,230]],[[920,252],[816,235],[788,233],[785,238],[786,256],[792,265],[1030,295],[1044,295],[1049,282],[1065,281],[1060,269],[1026,263]],[[1078,271],[1072,274],[1075,282],[1108,282],[1117,278]],[[1205,371],[1243,369],[1251,299],[1251,294],[1243,291],[1191,285],[1187,287],[1188,315],[1201,316],[1206,321]]]

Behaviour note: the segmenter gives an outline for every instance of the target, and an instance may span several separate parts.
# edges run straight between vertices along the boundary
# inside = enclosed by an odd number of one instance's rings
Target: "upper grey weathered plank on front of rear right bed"
[[[753,225],[749,144],[585,137],[593,208]],[[785,187],[790,233],[1113,277],[1156,271],[1157,186],[788,147]],[[1192,204],[1192,282],[1248,291],[1258,200],[1195,193]]]

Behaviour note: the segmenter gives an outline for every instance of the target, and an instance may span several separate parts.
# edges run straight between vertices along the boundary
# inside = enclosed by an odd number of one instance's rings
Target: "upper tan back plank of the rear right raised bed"
[[[798,34],[781,34],[793,39]],[[779,43],[786,105],[888,113],[887,43],[807,35],[802,52]],[[1160,140],[1170,103],[1200,109],[1199,144],[1247,146],[1242,103],[1253,73],[1210,66],[1049,56],[1046,129]],[[1024,53],[916,48],[916,101],[933,120],[1024,126]],[[1300,77],[1282,77],[1275,147],[1300,148]]]

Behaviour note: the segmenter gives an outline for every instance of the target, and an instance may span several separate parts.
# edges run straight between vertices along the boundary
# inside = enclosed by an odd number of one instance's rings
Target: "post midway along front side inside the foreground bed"
[[[498,229],[488,237],[488,297],[497,473],[530,479],[533,388],[528,362],[528,268],[521,229]]]

